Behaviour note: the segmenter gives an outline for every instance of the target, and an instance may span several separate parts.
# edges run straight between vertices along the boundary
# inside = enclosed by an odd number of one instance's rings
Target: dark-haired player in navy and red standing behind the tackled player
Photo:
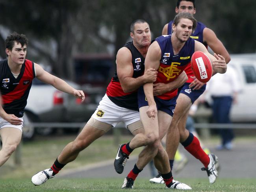
[[[195,14],[196,13],[195,0],[178,0],[177,6],[175,8],[175,12],[176,13],[186,12],[186,13],[191,13],[192,15]],[[172,24],[173,24],[173,21],[169,22],[163,27],[162,35],[172,34]],[[226,48],[222,44],[222,42],[217,38],[217,36],[211,29],[207,28],[201,22],[197,23],[197,28],[191,34],[190,37],[204,44],[206,48],[210,46],[210,48],[216,54],[223,55],[226,63],[230,61],[230,56]],[[187,65],[187,67],[185,68],[185,72],[187,74],[188,80],[179,89],[179,95],[177,98],[177,104],[175,108],[176,112],[171,122],[171,126],[169,129],[169,132],[167,133],[167,139],[166,139],[166,151],[169,156],[171,167],[173,166],[174,155],[178,148],[178,143],[177,143],[178,138],[175,136],[175,134],[173,134],[173,131],[174,132],[179,131],[181,144],[189,153],[191,153],[198,160],[200,160],[201,162],[204,162],[203,159],[206,159],[206,156],[207,156],[204,150],[202,150],[200,146],[200,142],[197,139],[197,137],[193,135],[191,132],[189,132],[189,130],[186,129],[186,122],[189,114],[189,109],[191,105],[195,102],[195,100],[197,100],[197,98],[206,89],[206,83],[201,83],[195,78],[191,70],[190,64]],[[164,84],[159,85],[159,87],[161,87],[161,90],[165,92]],[[190,147],[192,145],[194,146],[193,148]],[[195,148],[197,149],[197,153],[195,153],[195,150],[194,150]],[[211,155],[209,154],[209,157],[210,156]],[[160,183],[162,179],[159,176],[160,175],[150,179],[150,182]],[[210,183],[211,182],[213,181],[210,181]]]

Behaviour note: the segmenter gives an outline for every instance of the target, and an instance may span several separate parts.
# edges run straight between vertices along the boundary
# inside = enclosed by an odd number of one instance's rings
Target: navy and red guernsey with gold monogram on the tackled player
[[[189,38],[177,55],[173,53],[171,35],[162,35],[156,38],[161,48],[161,60],[158,68],[158,77],[155,83],[169,83],[174,81],[191,61],[191,56],[195,52],[195,40]],[[166,92],[157,96],[164,100],[169,100],[177,95],[177,90]]]

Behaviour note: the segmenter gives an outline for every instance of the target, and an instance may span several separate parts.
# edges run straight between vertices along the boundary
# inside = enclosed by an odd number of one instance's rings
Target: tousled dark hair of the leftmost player
[[[23,47],[24,44],[28,45],[28,38],[24,34],[19,34],[17,32],[13,32],[6,38],[5,46],[6,49],[12,50],[14,46],[14,42],[20,43]]]

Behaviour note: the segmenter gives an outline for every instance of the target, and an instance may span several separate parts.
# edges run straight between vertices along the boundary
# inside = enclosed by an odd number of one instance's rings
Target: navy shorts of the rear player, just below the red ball
[[[192,90],[189,88],[189,84],[190,83],[184,83],[184,85],[178,89],[178,94],[183,93],[187,95],[191,99],[191,102],[193,104],[195,100],[197,100],[197,98],[201,94],[203,94],[203,92],[205,91],[206,85],[202,86],[201,89]]]

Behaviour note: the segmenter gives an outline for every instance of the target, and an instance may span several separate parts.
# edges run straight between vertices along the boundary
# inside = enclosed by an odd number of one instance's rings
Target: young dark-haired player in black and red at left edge
[[[0,61],[0,166],[16,150],[22,136],[23,113],[33,78],[54,86],[56,89],[84,100],[82,90],[76,90],[62,79],[43,70],[26,59],[28,39],[25,35],[12,33],[5,41],[7,59]],[[36,99],[36,98],[35,98]]]

